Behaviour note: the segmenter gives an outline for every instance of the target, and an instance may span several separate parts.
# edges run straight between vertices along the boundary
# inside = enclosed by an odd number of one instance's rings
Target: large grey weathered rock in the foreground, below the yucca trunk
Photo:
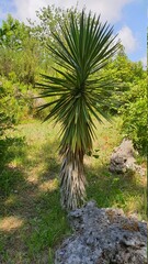
[[[118,209],[94,202],[69,213],[75,234],[56,251],[55,264],[146,264],[147,227]]]

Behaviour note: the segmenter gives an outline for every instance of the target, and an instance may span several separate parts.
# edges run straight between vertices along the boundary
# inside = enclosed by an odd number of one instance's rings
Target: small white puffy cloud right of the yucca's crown
[[[122,41],[126,53],[133,53],[138,47],[138,41],[127,25],[119,30],[118,37]]]

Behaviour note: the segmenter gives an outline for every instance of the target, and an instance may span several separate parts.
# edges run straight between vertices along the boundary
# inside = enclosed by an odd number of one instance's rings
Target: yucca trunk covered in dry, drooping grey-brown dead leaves
[[[86,200],[86,177],[83,173],[83,154],[71,154],[70,151],[64,156],[60,170],[61,206],[65,209],[76,209]]]

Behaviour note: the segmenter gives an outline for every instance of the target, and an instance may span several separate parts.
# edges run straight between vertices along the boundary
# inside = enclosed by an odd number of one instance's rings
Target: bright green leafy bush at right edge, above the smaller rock
[[[123,112],[123,130],[130,138],[135,146],[147,153],[147,76],[139,80],[125,95],[126,103]]]

